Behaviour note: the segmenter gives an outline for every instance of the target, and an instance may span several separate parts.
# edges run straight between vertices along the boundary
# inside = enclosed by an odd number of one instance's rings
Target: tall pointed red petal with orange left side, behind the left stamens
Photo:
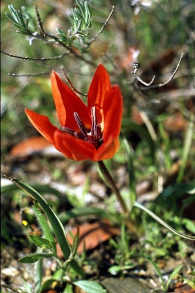
[[[86,105],[66,84],[62,82],[55,71],[52,71],[51,74],[51,86],[61,125],[78,131],[78,125],[74,118],[74,112],[77,112],[84,125],[87,128],[90,128],[90,112],[88,112]]]

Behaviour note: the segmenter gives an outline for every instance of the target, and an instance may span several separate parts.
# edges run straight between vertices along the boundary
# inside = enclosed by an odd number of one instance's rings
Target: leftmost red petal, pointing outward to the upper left
[[[48,117],[28,109],[25,109],[25,112],[30,122],[40,132],[40,134],[42,134],[47,141],[54,145],[54,132],[58,129],[49,122]]]

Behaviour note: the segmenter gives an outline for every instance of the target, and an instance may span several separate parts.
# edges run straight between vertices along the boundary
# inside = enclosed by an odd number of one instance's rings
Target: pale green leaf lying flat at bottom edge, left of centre
[[[102,285],[95,281],[81,280],[73,282],[74,285],[78,286],[80,289],[86,291],[86,293],[105,293],[107,292]]]

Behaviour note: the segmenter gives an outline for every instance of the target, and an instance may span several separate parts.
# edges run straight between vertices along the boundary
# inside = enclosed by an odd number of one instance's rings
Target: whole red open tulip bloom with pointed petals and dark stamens
[[[101,161],[117,152],[122,118],[122,96],[111,87],[103,65],[95,71],[88,90],[87,106],[53,71],[51,85],[62,129],[46,116],[25,109],[33,126],[68,159]]]

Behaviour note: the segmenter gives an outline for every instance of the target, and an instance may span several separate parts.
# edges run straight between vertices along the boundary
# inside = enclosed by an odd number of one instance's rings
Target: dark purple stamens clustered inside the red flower
[[[81,121],[80,117],[78,116],[77,112],[74,112],[74,118],[77,122],[78,128],[80,131],[74,131],[69,127],[63,126],[62,129],[65,133],[70,134],[78,139],[82,139],[94,145],[96,149],[100,147],[103,143],[102,138],[102,128],[100,124],[96,121],[96,113],[95,113],[95,106],[91,108],[91,130],[87,129],[83,122]]]

